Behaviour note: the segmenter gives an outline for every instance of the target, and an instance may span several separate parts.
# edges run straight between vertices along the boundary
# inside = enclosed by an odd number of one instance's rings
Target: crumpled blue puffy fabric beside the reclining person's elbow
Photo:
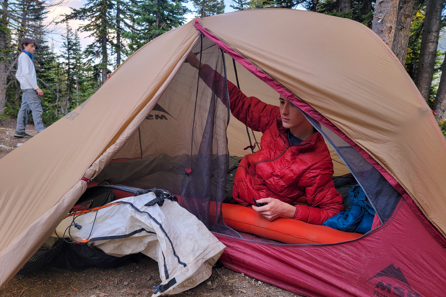
[[[350,188],[349,196],[344,201],[346,211],[332,216],[324,226],[345,232],[365,234],[372,229],[375,211],[359,185]]]

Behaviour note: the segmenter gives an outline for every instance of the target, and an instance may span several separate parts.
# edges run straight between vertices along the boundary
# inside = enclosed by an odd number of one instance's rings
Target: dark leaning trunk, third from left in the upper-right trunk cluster
[[[421,38],[420,58],[418,59],[415,85],[424,100],[428,101],[430,85],[434,76],[437,58],[438,35],[440,33],[443,0],[428,0]]]

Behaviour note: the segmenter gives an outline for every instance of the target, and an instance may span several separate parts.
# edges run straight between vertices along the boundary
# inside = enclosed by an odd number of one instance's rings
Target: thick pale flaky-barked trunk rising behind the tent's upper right
[[[377,0],[373,15],[372,30],[392,49],[395,35],[398,0]]]

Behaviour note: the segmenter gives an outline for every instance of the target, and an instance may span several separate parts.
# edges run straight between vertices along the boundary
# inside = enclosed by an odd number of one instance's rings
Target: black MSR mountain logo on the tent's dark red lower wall
[[[401,269],[390,264],[366,282],[370,281],[375,284],[373,295],[376,297],[421,297],[421,295],[413,291],[409,282],[405,278]]]

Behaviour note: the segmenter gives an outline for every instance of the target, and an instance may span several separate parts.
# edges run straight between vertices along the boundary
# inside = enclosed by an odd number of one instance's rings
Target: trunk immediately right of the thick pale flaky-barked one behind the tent
[[[404,66],[409,45],[410,25],[413,17],[414,0],[400,0],[396,18],[395,35],[393,36],[392,52]]]

